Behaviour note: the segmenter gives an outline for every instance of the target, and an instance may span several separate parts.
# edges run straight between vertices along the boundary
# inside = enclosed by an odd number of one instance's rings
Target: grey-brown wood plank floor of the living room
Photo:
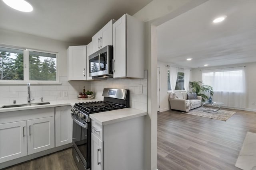
[[[158,113],[158,170],[240,170],[235,167],[256,112],[233,110],[228,121],[179,111]]]

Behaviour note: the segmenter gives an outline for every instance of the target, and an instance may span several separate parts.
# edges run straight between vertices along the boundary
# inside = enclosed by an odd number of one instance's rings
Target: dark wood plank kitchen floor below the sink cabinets
[[[78,170],[78,168],[70,148],[12,166],[6,170]]]

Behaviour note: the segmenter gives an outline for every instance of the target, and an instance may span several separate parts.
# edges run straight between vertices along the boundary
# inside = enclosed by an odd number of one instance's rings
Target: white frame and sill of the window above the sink
[[[59,74],[58,74],[58,53],[50,51],[42,51],[36,49],[28,49],[22,47],[14,47],[9,45],[0,45],[3,48],[17,49],[23,51],[23,80],[0,80],[0,84],[61,84],[59,83]],[[56,80],[29,80],[29,51],[41,52],[41,53],[50,53],[56,55]]]

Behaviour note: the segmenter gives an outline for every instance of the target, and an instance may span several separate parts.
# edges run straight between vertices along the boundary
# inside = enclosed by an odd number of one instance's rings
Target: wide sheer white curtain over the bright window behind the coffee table
[[[202,82],[213,87],[214,102],[223,102],[223,106],[228,107],[245,108],[244,67],[203,70]]]

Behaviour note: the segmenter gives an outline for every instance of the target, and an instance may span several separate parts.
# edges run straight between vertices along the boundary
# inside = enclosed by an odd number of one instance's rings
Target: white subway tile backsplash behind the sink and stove
[[[147,71],[144,72],[147,76]],[[103,100],[102,92],[104,88],[124,88],[130,92],[130,107],[136,109],[147,109],[147,78],[144,79],[114,79],[108,78],[98,81],[67,81],[66,76],[59,77],[61,85],[31,85],[30,96],[35,97],[34,102],[40,102],[41,97],[44,101],[76,99],[79,92],[90,90],[98,100]],[[143,94],[138,93],[139,85],[143,86]],[[68,96],[64,97],[63,92]],[[60,97],[57,95],[60,93]],[[12,104],[28,102],[28,92],[26,85],[0,86],[0,104]]]

